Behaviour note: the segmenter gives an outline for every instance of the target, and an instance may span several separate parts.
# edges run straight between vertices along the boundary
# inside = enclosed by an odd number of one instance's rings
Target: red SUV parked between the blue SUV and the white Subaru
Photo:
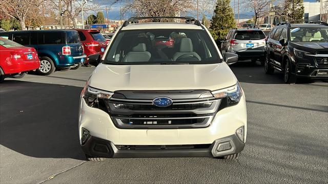
[[[100,54],[100,56],[104,55],[104,52],[107,47],[107,41],[105,37],[100,33],[100,30],[92,30],[92,29],[74,29],[78,32],[80,36],[81,42],[84,47],[84,52],[87,55],[92,54]],[[84,62],[88,64],[88,59]]]

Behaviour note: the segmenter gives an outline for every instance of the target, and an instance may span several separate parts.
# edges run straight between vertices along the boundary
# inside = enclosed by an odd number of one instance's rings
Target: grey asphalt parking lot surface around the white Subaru
[[[1,183],[328,183],[328,83],[283,84],[241,62],[247,145],[238,160],[116,158],[86,162],[78,99],[94,67],[0,84]]]

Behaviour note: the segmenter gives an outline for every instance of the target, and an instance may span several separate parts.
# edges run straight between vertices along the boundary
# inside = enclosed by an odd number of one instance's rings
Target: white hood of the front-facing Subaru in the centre
[[[91,75],[91,87],[116,90],[216,90],[237,79],[226,63],[181,65],[99,64]]]

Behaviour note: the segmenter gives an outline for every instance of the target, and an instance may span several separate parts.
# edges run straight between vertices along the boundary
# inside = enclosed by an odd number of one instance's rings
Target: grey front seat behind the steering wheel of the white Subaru
[[[190,38],[181,38],[179,52],[176,52],[172,59],[173,61],[176,61],[180,56],[183,55],[192,55],[199,61],[201,60],[200,56],[194,52],[193,43]]]

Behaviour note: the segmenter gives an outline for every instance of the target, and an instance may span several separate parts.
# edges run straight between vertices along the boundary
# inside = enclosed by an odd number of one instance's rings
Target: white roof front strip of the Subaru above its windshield
[[[202,30],[202,27],[194,24],[186,24],[180,22],[145,22],[129,24],[122,30],[141,30],[141,29],[196,29]]]

